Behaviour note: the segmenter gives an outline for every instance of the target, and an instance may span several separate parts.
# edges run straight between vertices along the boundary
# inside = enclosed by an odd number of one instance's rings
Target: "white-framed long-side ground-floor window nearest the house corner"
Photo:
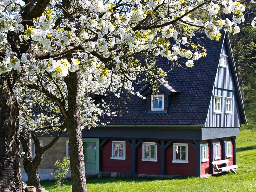
[[[188,163],[188,144],[173,144],[173,160],[172,163]]]

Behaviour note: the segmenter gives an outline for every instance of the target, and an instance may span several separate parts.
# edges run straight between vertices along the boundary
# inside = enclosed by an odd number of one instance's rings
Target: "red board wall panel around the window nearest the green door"
[[[123,140],[113,140],[123,141]],[[101,148],[101,169],[102,172],[131,173],[132,170],[132,149],[125,143],[125,160],[110,159],[112,153],[112,140],[108,140]]]

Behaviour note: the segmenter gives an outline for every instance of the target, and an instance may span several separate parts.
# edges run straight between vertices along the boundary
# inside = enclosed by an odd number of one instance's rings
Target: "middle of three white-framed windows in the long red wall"
[[[157,161],[156,143],[144,142],[142,151],[142,161]]]

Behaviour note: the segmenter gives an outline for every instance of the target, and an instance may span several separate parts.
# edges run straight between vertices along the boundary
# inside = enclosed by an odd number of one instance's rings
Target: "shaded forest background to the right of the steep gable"
[[[256,6],[245,3],[245,22],[239,34],[230,35],[232,52],[248,121],[247,128],[256,131],[256,28],[250,22],[256,16]]]

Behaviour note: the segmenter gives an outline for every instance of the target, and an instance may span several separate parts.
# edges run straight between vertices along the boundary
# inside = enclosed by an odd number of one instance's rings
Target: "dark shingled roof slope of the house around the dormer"
[[[121,100],[120,116],[104,116],[101,121],[109,121],[108,125],[204,125],[224,36],[222,32],[222,38],[217,42],[210,40],[204,32],[197,35],[204,44],[207,56],[196,60],[192,68],[185,66],[186,59],[180,59],[182,67],[176,67],[168,74],[166,88],[179,93],[174,95],[167,112],[148,113],[147,99],[131,95],[130,100]],[[156,63],[164,71],[170,69],[166,58],[158,58]],[[141,89],[141,86],[135,86],[135,92]],[[115,102],[112,103],[116,104]]]

